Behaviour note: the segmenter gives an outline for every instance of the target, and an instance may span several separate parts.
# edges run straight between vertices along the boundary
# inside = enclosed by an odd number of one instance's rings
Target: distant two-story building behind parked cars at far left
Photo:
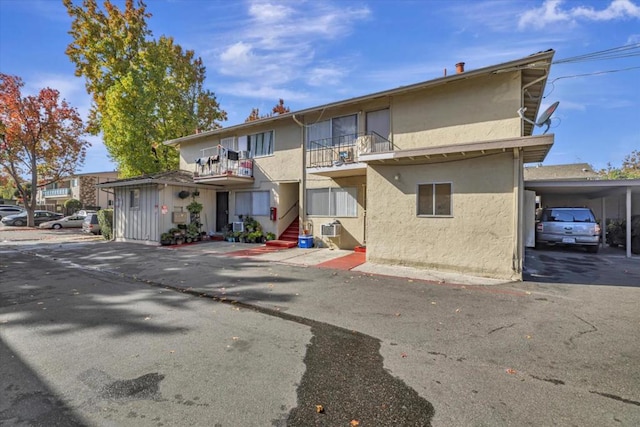
[[[38,188],[37,204],[43,209],[65,214],[71,213],[64,211],[64,202],[70,199],[79,200],[86,209],[112,207],[113,194],[98,189],[96,185],[116,179],[118,172],[115,171],[76,174]]]

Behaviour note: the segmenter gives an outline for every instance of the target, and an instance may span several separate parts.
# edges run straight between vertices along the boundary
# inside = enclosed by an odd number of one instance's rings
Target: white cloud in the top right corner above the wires
[[[575,4],[575,3],[569,3]],[[518,28],[541,29],[554,24],[574,26],[580,20],[612,21],[617,19],[640,18],[640,6],[631,0],[613,0],[601,10],[593,7],[577,6],[564,9],[564,0],[545,0],[541,7],[524,12],[518,21]]]

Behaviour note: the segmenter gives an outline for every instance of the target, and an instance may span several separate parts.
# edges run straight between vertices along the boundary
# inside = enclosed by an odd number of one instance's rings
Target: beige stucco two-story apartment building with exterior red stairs
[[[104,185],[115,237],[157,244],[190,201],[178,194],[196,192],[209,231],[250,215],[279,236],[298,221],[368,261],[519,279],[523,165],[553,144],[533,136],[553,54],[166,141],[179,179]]]

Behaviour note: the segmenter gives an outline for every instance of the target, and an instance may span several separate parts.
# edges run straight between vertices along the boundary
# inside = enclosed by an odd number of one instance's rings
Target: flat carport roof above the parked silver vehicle
[[[525,181],[525,189],[545,194],[579,194],[590,199],[624,194],[627,188],[631,193],[640,193],[640,179],[615,180],[536,180]]]

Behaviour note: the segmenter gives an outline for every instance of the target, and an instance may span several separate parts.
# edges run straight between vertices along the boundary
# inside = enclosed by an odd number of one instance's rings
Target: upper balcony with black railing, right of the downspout
[[[307,172],[329,177],[367,173],[359,158],[364,154],[393,151],[393,144],[375,132],[311,141],[307,145]]]

